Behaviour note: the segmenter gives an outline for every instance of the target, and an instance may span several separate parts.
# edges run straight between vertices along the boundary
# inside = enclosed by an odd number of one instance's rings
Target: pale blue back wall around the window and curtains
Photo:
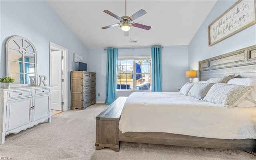
[[[118,56],[150,55],[150,48],[119,49]],[[96,102],[105,102],[106,98],[106,62],[107,51],[88,49],[87,70],[96,72]],[[178,92],[188,79],[188,46],[164,46],[162,49],[162,91]],[[100,97],[98,94],[100,93]],[[118,92],[119,96],[129,96],[132,92]]]

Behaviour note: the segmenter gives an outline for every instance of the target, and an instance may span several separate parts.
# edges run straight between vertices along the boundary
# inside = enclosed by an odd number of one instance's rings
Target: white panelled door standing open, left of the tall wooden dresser
[[[52,51],[52,110],[62,110],[62,50]]]

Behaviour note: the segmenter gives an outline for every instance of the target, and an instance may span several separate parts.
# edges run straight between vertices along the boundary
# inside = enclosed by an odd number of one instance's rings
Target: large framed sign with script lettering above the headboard
[[[212,46],[256,24],[256,0],[239,0],[208,26],[208,45]]]

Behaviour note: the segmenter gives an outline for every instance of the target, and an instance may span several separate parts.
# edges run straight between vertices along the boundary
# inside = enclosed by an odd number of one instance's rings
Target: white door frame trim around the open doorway
[[[63,52],[63,85],[62,85],[62,92],[63,92],[63,110],[68,110],[68,49],[64,48],[58,44],[54,44],[52,42],[49,42],[49,56],[50,56],[50,86],[52,85],[52,49],[53,50],[62,50]]]

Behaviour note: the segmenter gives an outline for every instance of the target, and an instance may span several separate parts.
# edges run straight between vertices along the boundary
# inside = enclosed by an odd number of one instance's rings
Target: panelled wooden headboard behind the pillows
[[[199,62],[199,81],[230,74],[256,78],[256,45]]]

